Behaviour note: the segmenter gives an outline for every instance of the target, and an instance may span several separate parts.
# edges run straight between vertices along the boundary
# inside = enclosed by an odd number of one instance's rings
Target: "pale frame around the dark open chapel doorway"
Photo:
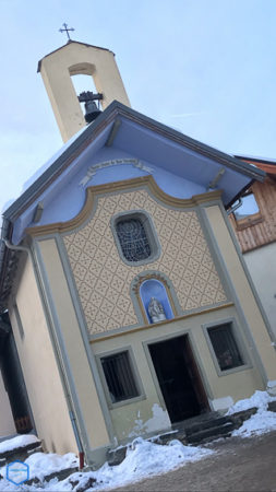
[[[159,385],[159,380],[158,380],[158,377],[157,377],[157,374],[156,374],[156,371],[155,371],[155,366],[154,366],[154,363],[153,363],[153,360],[152,360],[152,355],[151,355],[148,345],[152,345],[154,343],[159,343],[159,342],[166,342],[166,341],[169,341],[169,340],[171,340],[173,338],[181,338],[181,337],[184,337],[184,336],[188,336],[188,338],[189,338],[190,347],[191,347],[191,350],[192,350],[192,353],[193,353],[193,356],[194,356],[194,361],[195,361],[197,370],[199,370],[201,382],[202,382],[203,388],[205,390],[205,394],[206,394],[206,397],[207,397],[207,400],[208,400],[208,403],[209,403],[209,409],[212,410],[211,401],[214,399],[214,395],[213,395],[213,391],[212,391],[211,386],[208,384],[208,380],[207,380],[205,371],[204,371],[204,368],[202,366],[202,363],[200,362],[201,361],[200,354],[199,354],[199,351],[196,349],[196,345],[195,345],[195,342],[194,342],[194,339],[193,339],[193,336],[192,336],[192,331],[190,329],[183,330],[183,331],[181,330],[181,331],[179,331],[177,333],[175,332],[175,333],[165,335],[165,336],[153,338],[151,340],[146,340],[146,341],[142,342],[142,344],[144,347],[146,360],[147,360],[147,363],[148,363],[148,367],[149,367],[149,371],[151,371],[151,375],[152,375],[152,378],[153,378],[153,382],[154,382],[154,386],[155,386],[157,396],[159,398],[159,402],[160,402],[161,407],[164,408],[164,410],[166,410],[168,412],[167,406],[166,406],[166,402],[165,402],[165,399],[164,399],[164,396],[163,396],[163,393],[161,393],[161,388],[160,388],[160,385]],[[168,418],[169,418],[169,412],[168,412]]]

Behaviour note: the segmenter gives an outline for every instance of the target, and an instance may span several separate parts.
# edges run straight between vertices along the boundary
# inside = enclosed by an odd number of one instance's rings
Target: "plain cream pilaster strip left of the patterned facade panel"
[[[55,239],[39,241],[38,247],[49,284],[48,295],[52,298],[57,315],[56,323],[59,324],[62,332],[75,393],[89,440],[89,448],[108,445],[108,432],[57,244]]]

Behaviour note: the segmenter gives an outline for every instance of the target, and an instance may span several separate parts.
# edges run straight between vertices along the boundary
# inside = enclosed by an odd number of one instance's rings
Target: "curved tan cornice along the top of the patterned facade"
[[[47,225],[38,225],[36,227],[26,229],[26,233],[32,236],[41,236],[53,233],[64,233],[71,232],[82,225],[89,216],[95,197],[98,195],[107,195],[115,191],[131,191],[136,188],[141,188],[143,186],[147,186],[147,188],[152,191],[155,198],[160,200],[163,203],[180,209],[187,209],[192,207],[197,207],[202,203],[207,203],[209,201],[220,200],[221,190],[208,191],[201,195],[195,195],[192,198],[176,198],[167,195],[163,191],[159,186],[156,184],[153,176],[142,176],[134,179],[124,179],[122,181],[117,183],[107,183],[105,185],[97,185],[93,187],[88,187],[86,189],[86,201],[84,203],[81,212],[67,222],[56,222],[53,224]]]

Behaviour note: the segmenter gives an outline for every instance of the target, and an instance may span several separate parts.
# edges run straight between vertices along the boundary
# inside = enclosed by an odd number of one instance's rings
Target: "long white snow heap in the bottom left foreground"
[[[97,471],[75,472],[65,480],[58,482],[52,479],[44,481],[46,475],[57,469],[75,465],[75,456],[71,453],[64,456],[36,453],[26,459],[29,465],[29,478],[37,477],[43,482],[37,485],[13,485],[7,480],[0,481],[0,490],[22,491],[72,491],[85,485],[87,482],[93,490],[113,489],[130,482],[142,480],[145,477],[165,473],[187,462],[202,459],[214,452],[202,447],[184,446],[179,441],[171,441],[168,445],[154,444],[137,437],[129,445],[125,459],[118,466],[110,467],[107,462]],[[57,466],[56,466],[57,465]],[[3,476],[3,469],[1,470]]]

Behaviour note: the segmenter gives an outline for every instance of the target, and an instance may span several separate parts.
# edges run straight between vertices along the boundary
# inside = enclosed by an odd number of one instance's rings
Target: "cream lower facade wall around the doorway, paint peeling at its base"
[[[218,320],[236,318],[240,332],[242,347],[245,348],[245,359],[248,368],[232,372],[231,374],[218,376],[214,364],[214,359],[206,343],[203,325]],[[110,409],[115,433],[119,442],[124,442],[128,437],[158,432],[170,426],[170,420],[165,415],[166,406],[157,391],[158,383],[151,372],[149,358],[146,355],[143,343],[149,341],[161,341],[166,338],[189,333],[192,349],[197,366],[201,371],[203,385],[211,402],[216,399],[230,397],[237,401],[241,398],[250,397],[256,389],[264,389],[264,385],[256,370],[254,354],[248,347],[241,324],[238,320],[236,308],[227,307],[209,313],[203,313],[187,319],[176,319],[169,324],[151,325],[148,328],[122,336],[113,337],[92,343],[92,351],[96,355],[101,355],[112,350],[120,350],[131,345],[137,365],[137,371],[142,379],[142,385],[146,398],[134,403],[123,405]],[[156,411],[159,408],[158,411]],[[153,419],[155,417],[155,419]]]

